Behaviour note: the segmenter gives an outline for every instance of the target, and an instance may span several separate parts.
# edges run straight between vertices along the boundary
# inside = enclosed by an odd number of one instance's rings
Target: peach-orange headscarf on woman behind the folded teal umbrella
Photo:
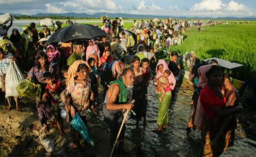
[[[67,85],[74,86],[75,85],[75,77],[77,77],[77,69],[79,64],[85,64],[88,67],[88,73],[92,72],[89,64],[86,61],[78,60],[74,61],[72,65],[68,68],[68,77],[67,77]]]

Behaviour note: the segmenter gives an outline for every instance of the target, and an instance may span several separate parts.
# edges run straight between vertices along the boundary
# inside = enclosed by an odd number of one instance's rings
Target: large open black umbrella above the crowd
[[[46,42],[67,42],[79,39],[92,39],[101,36],[108,36],[102,29],[90,24],[73,24],[62,29],[58,29]]]

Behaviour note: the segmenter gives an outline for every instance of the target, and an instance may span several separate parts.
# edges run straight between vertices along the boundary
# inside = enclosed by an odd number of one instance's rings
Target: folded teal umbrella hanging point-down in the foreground
[[[93,139],[89,135],[89,131],[85,126],[84,122],[82,121],[81,117],[78,113],[76,113],[75,117],[70,122],[70,125],[76,129],[76,131],[84,138],[91,146],[95,147]]]

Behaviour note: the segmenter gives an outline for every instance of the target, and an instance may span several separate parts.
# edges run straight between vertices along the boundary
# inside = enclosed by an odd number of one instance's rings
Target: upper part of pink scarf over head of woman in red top
[[[204,65],[198,68],[198,85],[197,87],[204,87],[207,85],[206,73],[211,69],[213,64]]]

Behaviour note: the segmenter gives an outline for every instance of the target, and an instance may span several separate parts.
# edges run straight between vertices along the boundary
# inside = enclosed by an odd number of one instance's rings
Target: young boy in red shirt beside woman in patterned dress
[[[43,74],[44,81],[47,84],[45,87],[45,95],[42,100],[47,102],[49,98],[52,102],[52,112],[53,112],[53,121],[56,122],[58,130],[60,131],[61,136],[64,136],[63,126],[61,122],[60,108],[58,107],[61,103],[60,95],[64,87],[61,84],[61,81],[55,81],[52,73],[46,72]],[[47,98],[46,98],[47,97]]]

